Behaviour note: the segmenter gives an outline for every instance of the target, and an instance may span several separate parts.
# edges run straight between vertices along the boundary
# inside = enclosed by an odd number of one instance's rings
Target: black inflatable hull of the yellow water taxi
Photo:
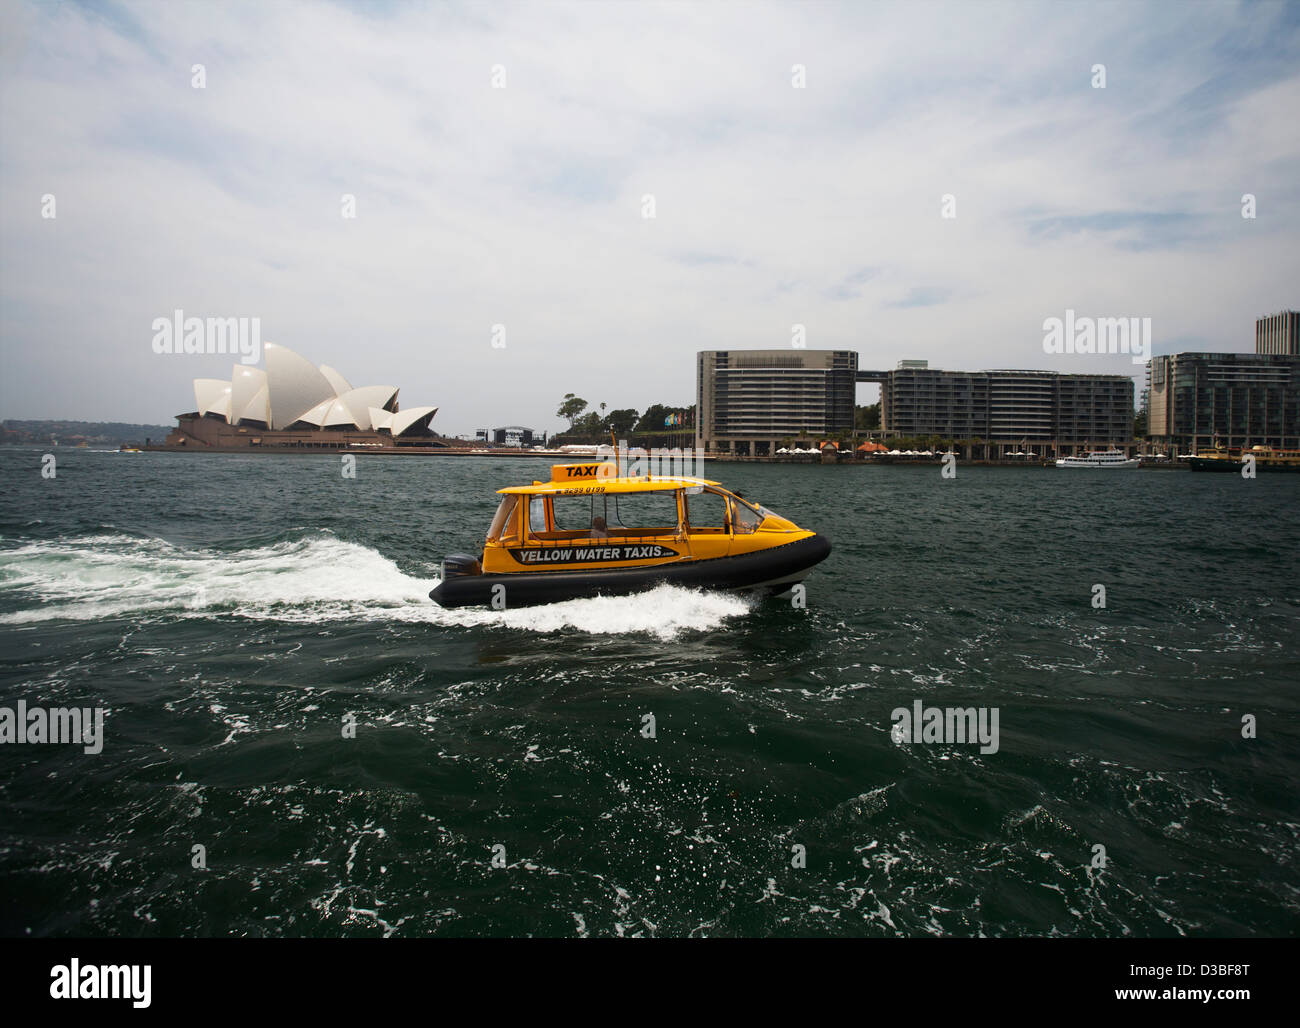
[[[458,574],[438,585],[429,598],[443,607],[489,607],[493,586],[504,585],[506,607],[533,607],[584,597],[625,597],[664,582],[688,589],[762,589],[780,591],[783,578],[797,576],[826,560],[831,543],[822,535],[759,550],[742,556],[686,560],[655,568],[618,571],[552,571],[517,574]]]

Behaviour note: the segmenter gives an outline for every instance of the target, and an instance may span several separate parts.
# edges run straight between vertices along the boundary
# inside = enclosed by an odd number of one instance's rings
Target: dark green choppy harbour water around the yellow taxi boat
[[[432,604],[546,465],[0,451],[0,704],[108,708],[0,746],[0,931],[1296,934],[1300,476],[719,464],[806,610]]]

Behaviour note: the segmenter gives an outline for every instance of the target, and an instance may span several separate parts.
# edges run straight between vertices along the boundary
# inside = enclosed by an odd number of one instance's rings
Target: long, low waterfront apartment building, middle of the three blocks
[[[1134,441],[1134,382],[1122,374],[945,372],[901,361],[878,381],[887,437],[979,439],[989,456],[1024,447],[1040,456],[1127,451]]]

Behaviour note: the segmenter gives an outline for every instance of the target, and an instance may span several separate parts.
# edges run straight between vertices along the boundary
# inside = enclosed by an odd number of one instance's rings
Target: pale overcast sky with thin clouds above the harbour
[[[686,405],[796,324],[1131,374],[1044,320],[1249,351],[1300,307],[1300,4],[0,9],[0,417],[170,424],[231,365],[153,352],[177,308],[458,434]]]

